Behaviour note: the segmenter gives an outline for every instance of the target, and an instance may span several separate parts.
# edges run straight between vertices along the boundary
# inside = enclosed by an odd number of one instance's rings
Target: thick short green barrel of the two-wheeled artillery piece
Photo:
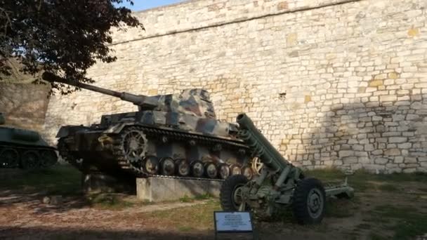
[[[254,150],[265,166],[274,171],[283,171],[287,168],[289,162],[268,142],[247,114],[239,114],[237,124],[239,124],[237,135]]]

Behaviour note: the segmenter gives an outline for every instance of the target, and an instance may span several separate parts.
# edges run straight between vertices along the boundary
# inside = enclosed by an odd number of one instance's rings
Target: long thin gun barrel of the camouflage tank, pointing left
[[[120,98],[121,100],[124,100],[126,102],[132,102],[134,105],[138,105],[140,107],[147,107],[147,108],[155,108],[158,105],[158,102],[155,98],[145,96],[145,95],[135,95],[132,93],[120,93],[117,91],[112,91],[105,88],[100,88],[97,86],[92,86],[88,84],[83,84],[78,81],[68,81],[67,79],[64,79],[60,76],[57,76],[51,72],[44,72],[41,76],[45,81],[49,82],[57,82],[61,84],[67,84],[71,86],[76,86],[78,88],[84,88],[90,91],[94,91],[97,93],[103,93],[105,95],[110,95],[116,98]]]

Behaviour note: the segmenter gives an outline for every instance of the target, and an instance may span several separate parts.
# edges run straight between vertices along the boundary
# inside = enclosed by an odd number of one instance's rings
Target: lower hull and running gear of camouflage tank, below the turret
[[[122,127],[124,125],[124,127]],[[110,128],[120,129],[112,133]],[[210,134],[180,131],[176,128],[121,122],[110,128],[89,128],[84,126],[65,126],[60,130],[63,137],[58,140],[61,156],[80,171],[99,171],[109,175],[178,175],[189,178],[223,178],[220,166],[234,166],[242,173],[249,168],[250,154],[242,141]],[[129,135],[141,139],[141,152],[137,158],[129,155]],[[147,169],[147,159],[157,162],[157,170]],[[178,164],[171,171],[162,171],[162,161],[169,159],[174,163],[186,161],[188,166],[194,162],[202,163],[204,173],[180,174]],[[208,166],[216,166],[217,173],[208,174]],[[213,168],[211,166],[211,168]],[[230,172],[230,174],[232,174]],[[251,175],[247,175],[251,178]]]

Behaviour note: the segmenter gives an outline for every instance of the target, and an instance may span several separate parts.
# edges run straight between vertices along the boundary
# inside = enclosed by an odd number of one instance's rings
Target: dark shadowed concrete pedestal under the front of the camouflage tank
[[[113,178],[102,173],[81,174],[81,187],[84,192],[126,192],[135,194],[135,181]]]

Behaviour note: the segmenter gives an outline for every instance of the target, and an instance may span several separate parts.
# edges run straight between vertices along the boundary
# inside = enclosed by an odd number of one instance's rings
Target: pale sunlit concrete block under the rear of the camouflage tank
[[[136,196],[143,201],[173,201],[203,194],[219,196],[223,181],[179,178],[137,178]]]

